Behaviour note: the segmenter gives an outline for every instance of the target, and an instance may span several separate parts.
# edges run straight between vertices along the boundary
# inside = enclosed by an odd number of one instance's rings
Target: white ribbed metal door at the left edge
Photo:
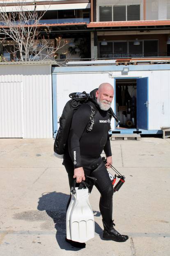
[[[0,138],[23,138],[21,82],[0,82]]]

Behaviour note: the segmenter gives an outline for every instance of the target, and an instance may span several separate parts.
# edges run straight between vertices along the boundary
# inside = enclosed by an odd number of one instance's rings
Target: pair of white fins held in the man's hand
[[[94,237],[94,214],[89,202],[88,188],[75,188],[66,215],[67,239],[86,242]]]

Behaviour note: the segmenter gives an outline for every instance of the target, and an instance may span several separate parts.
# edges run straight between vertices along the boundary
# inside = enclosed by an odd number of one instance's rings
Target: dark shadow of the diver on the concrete
[[[65,242],[66,235],[66,206],[69,200],[69,195],[64,193],[44,193],[39,198],[38,207],[39,211],[46,211],[48,216],[53,219],[55,228],[57,230],[56,240],[61,249],[67,251],[78,251],[79,248],[72,247],[70,244]],[[100,216],[98,211],[94,211],[95,216]],[[95,222],[95,232],[101,235],[102,229]]]

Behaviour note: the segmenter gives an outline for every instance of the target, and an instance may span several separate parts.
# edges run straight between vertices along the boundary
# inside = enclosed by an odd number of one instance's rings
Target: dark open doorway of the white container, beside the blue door
[[[116,115],[121,128],[137,128],[136,89],[137,79],[116,79]]]

